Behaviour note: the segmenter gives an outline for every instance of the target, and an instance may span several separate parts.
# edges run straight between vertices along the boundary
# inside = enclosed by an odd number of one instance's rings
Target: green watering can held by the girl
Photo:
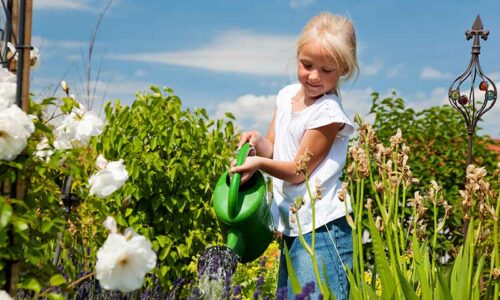
[[[251,151],[248,143],[241,147],[236,166],[242,165]],[[226,246],[242,263],[258,258],[272,240],[273,220],[266,201],[266,181],[260,171],[240,186],[241,174],[220,177],[214,191],[214,209]]]

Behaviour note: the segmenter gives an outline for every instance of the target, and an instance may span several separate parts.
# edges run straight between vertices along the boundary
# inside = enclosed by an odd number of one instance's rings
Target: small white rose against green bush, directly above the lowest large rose
[[[99,155],[97,165],[102,168],[89,178],[90,195],[105,198],[118,190],[128,179],[123,159],[108,162]]]

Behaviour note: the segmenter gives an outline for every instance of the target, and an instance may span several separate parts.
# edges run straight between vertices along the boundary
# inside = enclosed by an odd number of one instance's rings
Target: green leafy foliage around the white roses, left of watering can
[[[57,150],[47,162],[37,159],[33,153],[42,136],[54,140],[43,113],[51,106],[68,113],[74,105],[70,98],[33,104],[30,113],[39,119],[26,154],[0,161],[0,285],[12,262],[20,263],[20,287],[36,293],[94,271],[107,236],[102,222],[111,215],[120,231],[133,227],[152,242],[158,256],[154,272],[169,290],[174,280],[193,275],[188,266],[196,254],[222,243],[211,197],[236,149],[234,117],[210,119],[204,109],[184,109],[171,89],[152,87],[137,94],[131,106],[108,103],[106,126],[88,147]],[[88,194],[99,154],[109,161],[123,159],[129,172],[125,185],[106,199]],[[79,199],[71,207],[60,191],[68,176]],[[27,187],[24,202],[9,197],[16,179]],[[52,260],[59,233],[58,270]]]

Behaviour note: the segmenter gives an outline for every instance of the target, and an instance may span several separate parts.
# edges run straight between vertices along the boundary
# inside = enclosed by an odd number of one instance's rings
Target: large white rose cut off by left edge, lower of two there
[[[0,107],[0,159],[14,160],[35,131],[33,119],[16,105]]]

